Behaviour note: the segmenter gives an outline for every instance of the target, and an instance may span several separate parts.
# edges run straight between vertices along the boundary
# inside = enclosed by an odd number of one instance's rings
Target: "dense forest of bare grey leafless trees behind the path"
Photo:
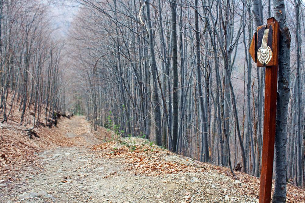
[[[259,177],[265,70],[248,49],[256,27],[274,16],[281,36],[273,201],[284,202],[286,182],[304,187],[303,2],[67,1],[76,11],[64,33],[50,17],[62,2],[50,2],[0,0],[2,122],[17,114],[37,127],[42,115],[70,111],[95,130]]]

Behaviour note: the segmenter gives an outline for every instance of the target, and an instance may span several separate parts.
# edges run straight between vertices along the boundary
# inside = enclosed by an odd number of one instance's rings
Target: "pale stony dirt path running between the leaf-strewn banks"
[[[43,151],[18,179],[0,180],[0,202],[258,202],[250,189],[239,189],[242,182],[210,170],[160,176],[126,170],[124,158],[89,148],[107,135],[92,133],[84,117],[64,119],[58,130],[76,146]]]

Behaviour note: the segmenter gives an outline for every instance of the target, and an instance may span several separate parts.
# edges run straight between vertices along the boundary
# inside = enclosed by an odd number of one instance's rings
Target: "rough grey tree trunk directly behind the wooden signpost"
[[[280,40],[278,51],[278,95],[275,129],[275,184],[273,203],[286,202],[287,171],[287,109],[289,103],[290,80],[290,32],[287,26],[285,3],[272,0],[275,19],[279,22]]]

